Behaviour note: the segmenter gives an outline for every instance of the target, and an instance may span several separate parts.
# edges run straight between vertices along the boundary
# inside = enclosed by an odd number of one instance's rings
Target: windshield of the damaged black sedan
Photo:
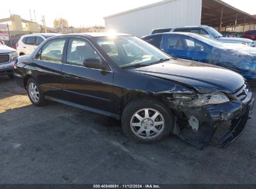
[[[98,45],[120,68],[143,67],[169,60],[171,57],[133,36],[95,37]]]

